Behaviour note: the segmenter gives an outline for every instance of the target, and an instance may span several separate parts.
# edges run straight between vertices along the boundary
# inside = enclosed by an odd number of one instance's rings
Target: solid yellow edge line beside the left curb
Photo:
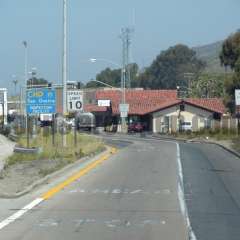
[[[53,197],[55,194],[57,194],[58,192],[60,192],[62,189],[64,189],[65,187],[67,187],[68,185],[70,185],[72,182],[75,182],[76,180],[78,180],[80,177],[82,177],[83,175],[87,174],[88,172],[90,172],[92,169],[96,168],[98,165],[100,165],[101,163],[103,163],[104,161],[106,161],[111,154],[115,154],[117,152],[116,148],[111,148],[110,153],[100,157],[98,160],[89,163],[85,168],[81,169],[78,173],[72,175],[71,177],[69,177],[68,179],[66,179],[64,182],[58,184],[57,186],[53,187],[52,189],[50,189],[48,192],[44,193],[42,195],[42,198],[44,200],[47,200],[51,197]]]

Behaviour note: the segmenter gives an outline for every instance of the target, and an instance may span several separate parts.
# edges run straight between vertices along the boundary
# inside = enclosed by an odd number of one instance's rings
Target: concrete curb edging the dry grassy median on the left
[[[71,170],[73,171],[74,169],[78,169],[79,164],[85,163],[87,161],[91,161],[91,159],[100,157],[101,155],[105,155],[107,153],[111,153],[111,148],[108,146],[105,146],[106,150],[100,153],[97,153],[95,155],[92,156],[87,156],[84,158],[79,159],[77,162],[74,162],[72,164],[69,164],[67,166],[65,166],[64,168],[53,172],[45,177],[43,177],[42,179],[37,180],[36,182],[34,182],[32,185],[30,185],[29,187],[27,187],[26,189],[24,189],[21,192],[18,193],[14,193],[14,194],[9,194],[9,193],[0,193],[0,198],[2,199],[15,199],[15,198],[19,198],[22,197],[24,195],[26,195],[27,193],[30,193],[32,190],[36,189],[37,187],[47,184],[49,183],[51,180],[56,179],[58,177],[61,177],[62,174],[66,174],[65,172],[70,172]],[[67,175],[67,174],[66,174]]]

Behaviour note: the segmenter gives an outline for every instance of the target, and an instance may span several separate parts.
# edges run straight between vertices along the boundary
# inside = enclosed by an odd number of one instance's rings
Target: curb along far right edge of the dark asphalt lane
[[[230,149],[220,143],[217,142],[212,142],[212,141],[203,141],[203,140],[191,140],[191,139],[184,139],[184,138],[174,138],[174,137],[161,137],[161,136],[152,136],[153,138],[156,139],[161,139],[161,140],[173,140],[173,141],[178,141],[178,142],[184,142],[184,143],[203,143],[203,144],[213,144],[213,145],[217,145],[221,148],[223,148],[224,150],[228,151],[229,153],[235,155],[236,157],[240,158],[240,153],[238,153],[237,151]]]

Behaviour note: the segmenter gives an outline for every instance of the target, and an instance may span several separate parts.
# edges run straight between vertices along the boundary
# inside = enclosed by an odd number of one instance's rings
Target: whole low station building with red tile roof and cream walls
[[[98,129],[120,131],[121,89],[86,91],[84,99],[84,111],[95,115]],[[153,133],[223,127],[226,112],[222,99],[179,98],[177,90],[129,89],[125,102],[127,123],[139,122]]]

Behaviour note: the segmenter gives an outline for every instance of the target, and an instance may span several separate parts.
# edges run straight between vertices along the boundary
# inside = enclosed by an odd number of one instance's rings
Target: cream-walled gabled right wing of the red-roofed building
[[[213,120],[220,121],[225,111],[219,99],[185,99],[153,114],[153,132],[180,130],[199,131],[211,128]]]

